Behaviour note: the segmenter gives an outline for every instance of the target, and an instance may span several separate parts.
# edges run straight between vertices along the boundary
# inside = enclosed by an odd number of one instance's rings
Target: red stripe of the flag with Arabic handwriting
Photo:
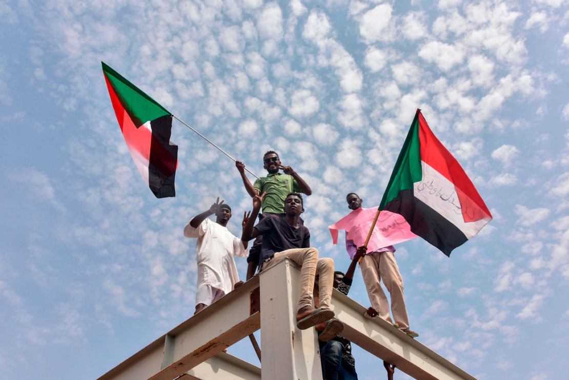
[[[464,221],[473,222],[486,217],[492,218],[490,210],[488,210],[464,169],[432,133],[420,110],[417,112],[419,113],[421,160],[455,185],[463,209]]]

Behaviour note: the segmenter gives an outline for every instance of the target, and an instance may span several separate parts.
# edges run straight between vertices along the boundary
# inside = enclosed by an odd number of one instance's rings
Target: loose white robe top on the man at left
[[[226,227],[205,218],[197,228],[185,226],[184,236],[197,238],[197,286],[207,284],[228,294],[239,281],[234,255],[246,257],[240,238]]]

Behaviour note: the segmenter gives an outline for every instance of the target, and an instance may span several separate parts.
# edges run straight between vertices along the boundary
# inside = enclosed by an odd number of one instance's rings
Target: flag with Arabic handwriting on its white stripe
[[[447,256],[490,220],[472,181],[418,109],[380,204]]]

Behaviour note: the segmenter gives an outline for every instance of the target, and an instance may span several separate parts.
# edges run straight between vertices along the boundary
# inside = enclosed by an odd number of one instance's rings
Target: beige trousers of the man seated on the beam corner
[[[265,270],[285,258],[291,259],[300,265],[300,296],[298,309],[312,306],[312,291],[314,290],[314,276],[318,273],[318,287],[320,288],[320,308],[329,309],[332,300],[332,286],[334,282],[334,261],[329,258],[318,258],[316,248],[295,248],[275,253],[273,259],[267,262],[261,270]]]

